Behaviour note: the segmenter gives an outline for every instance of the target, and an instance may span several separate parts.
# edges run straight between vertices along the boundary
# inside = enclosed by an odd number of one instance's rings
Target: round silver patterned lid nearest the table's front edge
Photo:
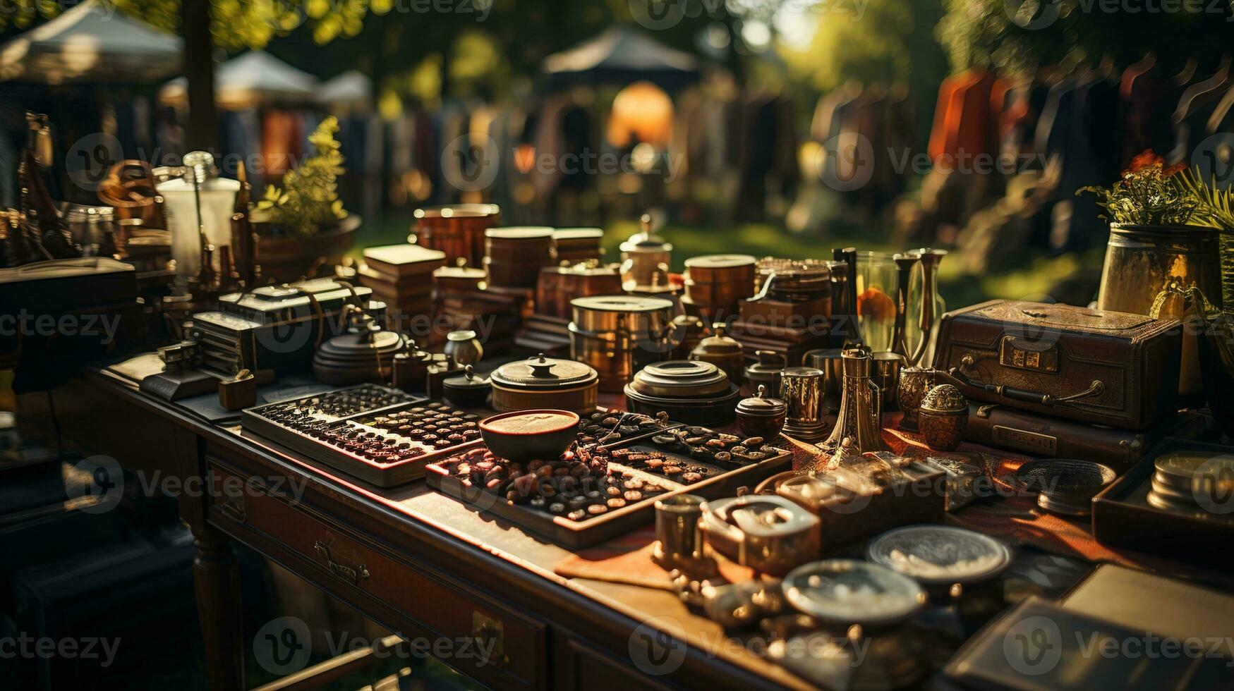
[[[917,581],[880,564],[824,559],[793,569],[782,582],[797,610],[834,624],[882,626],[913,616],[927,601]]]

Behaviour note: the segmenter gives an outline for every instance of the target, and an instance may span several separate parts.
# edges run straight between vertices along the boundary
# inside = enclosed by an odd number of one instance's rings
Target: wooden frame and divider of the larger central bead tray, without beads
[[[587,518],[585,521],[571,521],[565,516],[554,516],[547,511],[506,501],[505,497],[500,497],[495,492],[490,492],[487,490],[465,487],[463,486],[463,482],[460,482],[458,478],[450,475],[449,470],[442,464],[434,463],[428,465],[428,468],[426,468],[424,480],[433,490],[462,501],[463,503],[466,503],[479,511],[505,518],[506,521],[510,521],[511,523],[528,529],[543,538],[553,540],[561,547],[569,549],[581,549],[626,534],[634,528],[648,523],[653,517],[653,510],[656,500],[676,495],[698,495],[705,499],[731,496],[739,486],[744,485],[753,487],[761,480],[765,480],[776,473],[789,470],[792,466],[792,454],[786,450],[759,463],[752,463],[750,465],[735,469],[726,469],[711,463],[697,461],[675,452],[663,450],[655,444],[629,443],[629,448],[638,450],[656,450],[664,453],[665,455],[687,459],[686,463],[690,465],[716,468],[719,473],[711,478],[705,478],[694,482],[692,485],[684,485],[674,482],[664,475],[610,461],[610,468],[619,469],[649,482],[655,482],[660,486],[668,487],[669,491],[643,499],[616,511],[610,511],[603,516]]]

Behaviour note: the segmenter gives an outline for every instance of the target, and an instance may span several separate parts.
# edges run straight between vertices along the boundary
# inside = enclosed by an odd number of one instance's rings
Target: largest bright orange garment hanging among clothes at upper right
[[[929,137],[930,160],[950,158],[945,167],[955,168],[964,157],[965,168],[971,168],[974,155],[990,153],[995,141],[990,109],[993,84],[993,75],[980,69],[943,80]]]

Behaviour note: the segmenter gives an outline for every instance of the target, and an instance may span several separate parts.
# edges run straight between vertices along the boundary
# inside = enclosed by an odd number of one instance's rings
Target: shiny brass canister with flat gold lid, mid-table
[[[621,392],[644,365],[674,348],[673,302],[637,295],[570,301],[570,357],[600,373],[600,390]]]

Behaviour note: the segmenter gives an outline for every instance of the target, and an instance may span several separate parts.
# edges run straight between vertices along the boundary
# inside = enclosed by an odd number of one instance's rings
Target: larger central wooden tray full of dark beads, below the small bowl
[[[617,449],[575,443],[555,460],[522,464],[481,444],[429,464],[424,480],[563,547],[584,548],[649,522],[658,499],[729,496],[791,466],[792,455],[785,450],[744,465],[719,465],[654,443]]]

